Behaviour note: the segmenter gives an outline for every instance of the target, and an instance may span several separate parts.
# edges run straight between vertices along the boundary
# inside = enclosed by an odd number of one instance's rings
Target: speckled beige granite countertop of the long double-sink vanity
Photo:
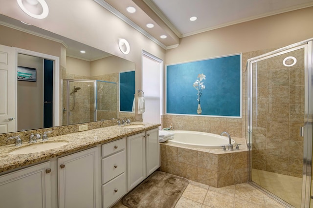
[[[131,124],[143,124],[144,126],[138,128],[125,128],[123,126],[114,125],[66,134],[62,136],[49,137],[48,141],[42,142],[41,140],[39,140],[36,144],[41,144],[45,142],[67,142],[68,144],[58,148],[30,154],[13,155],[9,153],[17,148],[34,144],[24,142],[22,146],[19,147],[15,145],[0,146],[0,174],[2,172],[13,170],[15,168],[46,161],[54,157],[66,155],[68,153],[97,146],[99,144],[109,143],[123,137],[156,128],[160,125],[143,122],[132,122]]]

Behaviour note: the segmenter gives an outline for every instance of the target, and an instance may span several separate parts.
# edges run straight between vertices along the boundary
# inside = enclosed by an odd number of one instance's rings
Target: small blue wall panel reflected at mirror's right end
[[[135,94],[135,71],[119,73],[120,111],[132,112]]]

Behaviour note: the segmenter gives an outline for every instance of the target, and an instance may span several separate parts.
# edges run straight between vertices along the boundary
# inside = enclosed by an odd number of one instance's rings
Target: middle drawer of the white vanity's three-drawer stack
[[[125,150],[102,159],[102,184],[125,172]]]

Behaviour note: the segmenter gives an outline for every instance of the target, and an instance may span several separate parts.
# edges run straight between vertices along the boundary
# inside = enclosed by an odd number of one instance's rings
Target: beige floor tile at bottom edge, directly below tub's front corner
[[[233,208],[234,197],[208,190],[203,204],[212,208]]]

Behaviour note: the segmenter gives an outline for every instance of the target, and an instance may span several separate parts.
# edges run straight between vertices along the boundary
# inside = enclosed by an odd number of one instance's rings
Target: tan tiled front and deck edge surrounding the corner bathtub
[[[239,150],[202,149],[161,143],[161,171],[206,184],[225,187],[248,180],[245,138],[233,138]]]

